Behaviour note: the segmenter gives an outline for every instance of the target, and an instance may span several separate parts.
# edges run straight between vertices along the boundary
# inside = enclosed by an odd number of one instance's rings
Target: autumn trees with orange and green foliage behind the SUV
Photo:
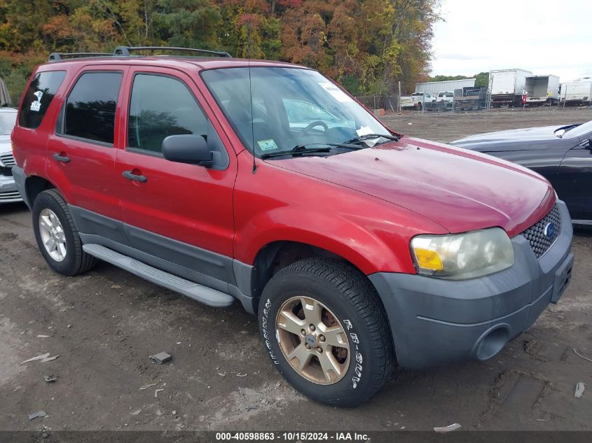
[[[3,0],[0,77],[18,101],[49,52],[225,50],[318,69],[353,94],[427,76],[439,0]]]

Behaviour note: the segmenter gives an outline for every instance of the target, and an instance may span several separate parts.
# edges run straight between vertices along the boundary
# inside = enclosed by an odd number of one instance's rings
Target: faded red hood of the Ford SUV
[[[514,236],[555,202],[551,185],[528,169],[407,137],[329,157],[267,162],[404,207],[449,232],[500,226]]]

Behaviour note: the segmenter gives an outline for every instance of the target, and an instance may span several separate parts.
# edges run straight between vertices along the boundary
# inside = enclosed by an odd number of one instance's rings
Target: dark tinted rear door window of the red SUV
[[[122,78],[121,72],[83,73],[66,101],[62,134],[113,145]]]

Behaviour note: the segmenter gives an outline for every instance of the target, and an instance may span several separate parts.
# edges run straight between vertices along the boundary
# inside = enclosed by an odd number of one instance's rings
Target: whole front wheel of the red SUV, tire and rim
[[[275,274],[259,303],[259,327],[277,370],[319,402],[359,405],[392,370],[392,339],[376,290],[336,260],[301,260]]]

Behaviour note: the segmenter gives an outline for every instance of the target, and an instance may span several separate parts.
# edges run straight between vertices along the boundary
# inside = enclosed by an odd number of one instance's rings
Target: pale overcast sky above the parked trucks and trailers
[[[592,0],[441,0],[432,76],[520,68],[592,77]]]

